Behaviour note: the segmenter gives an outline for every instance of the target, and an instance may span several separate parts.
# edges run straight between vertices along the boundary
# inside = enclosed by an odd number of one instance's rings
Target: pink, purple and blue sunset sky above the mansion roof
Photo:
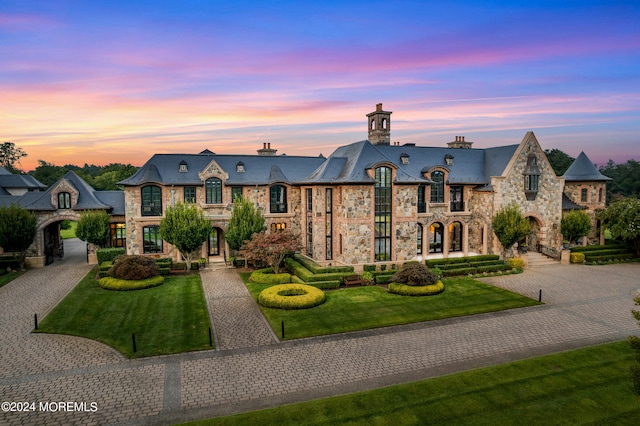
[[[0,142],[64,165],[366,139],[640,160],[640,2],[0,1]]]

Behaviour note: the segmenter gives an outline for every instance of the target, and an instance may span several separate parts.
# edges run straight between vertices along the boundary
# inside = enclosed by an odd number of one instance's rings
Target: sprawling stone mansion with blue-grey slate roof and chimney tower
[[[257,155],[156,154],[119,182],[124,191],[92,192],[69,172],[41,197],[52,216],[41,221],[40,232],[77,216],[83,202],[83,209],[112,214],[113,246],[178,260],[162,240],[160,220],[167,206],[195,203],[212,226],[201,256],[222,261],[229,256],[224,233],[232,202],[242,197],[261,209],[268,232],[293,230],[303,252],[320,263],[500,254],[491,221],[510,203],[531,222],[529,250],[556,255],[562,214],[571,209],[590,212],[589,239],[602,238],[594,212],[605,207],[609,178],[584,153],[556,176],[533,132],[518,144],[486,149],[472,148],[464,136],[441,147],[400,145],[391,143],[391,112],[382,104],[366,117],[367,140],[328,158],[276,155],[270,143]],[[34,252],[42,257],[44,248]]]

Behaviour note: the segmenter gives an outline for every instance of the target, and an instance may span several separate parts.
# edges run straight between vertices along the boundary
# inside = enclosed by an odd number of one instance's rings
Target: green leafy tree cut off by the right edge
[[[624,198],[615,201],[598,214],[602,225],[616,239],[630,241],[640,256],[640,200]]]

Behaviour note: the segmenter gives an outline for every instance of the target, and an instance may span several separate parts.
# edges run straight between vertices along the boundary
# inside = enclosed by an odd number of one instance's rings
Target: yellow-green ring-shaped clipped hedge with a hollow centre
[[[321,305],[324,301],[322,290],[306,284],[274,285],[258,295],[258,303],[276,309],[307,309]]]

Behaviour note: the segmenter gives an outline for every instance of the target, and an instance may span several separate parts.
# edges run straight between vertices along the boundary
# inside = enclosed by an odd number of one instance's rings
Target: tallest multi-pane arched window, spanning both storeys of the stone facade
[[[375,260],[391,260],[391,168],[378,167],[375,171]]]

